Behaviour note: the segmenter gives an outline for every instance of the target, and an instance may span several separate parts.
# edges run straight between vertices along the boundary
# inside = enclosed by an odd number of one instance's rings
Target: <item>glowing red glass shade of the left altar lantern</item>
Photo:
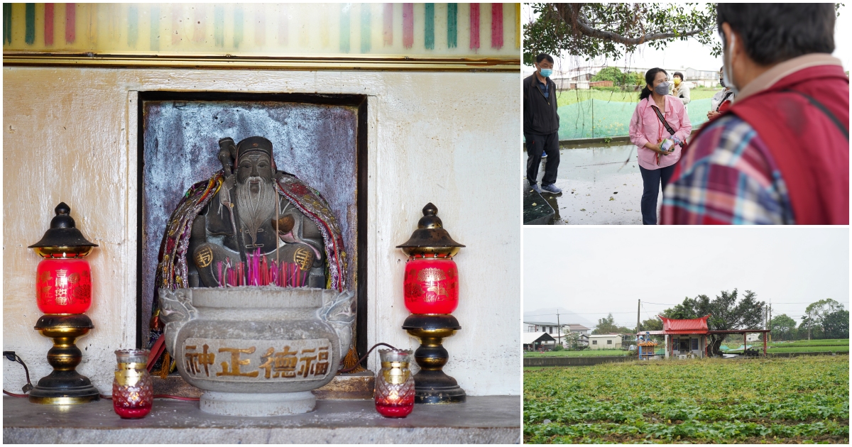
[[[83,313],[92,305],[89,261],[45,258],[36,270],[36,304],[44,313]]]

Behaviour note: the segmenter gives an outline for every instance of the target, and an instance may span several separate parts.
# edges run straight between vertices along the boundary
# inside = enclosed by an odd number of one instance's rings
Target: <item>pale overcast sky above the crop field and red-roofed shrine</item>
[[[613,312],[632,328],[637,300],[645,320],[734,288],[797,323],[823,298],[849,309],[848,228],[527,226],[523,252],[524,312],[564,307],[593,323]]]

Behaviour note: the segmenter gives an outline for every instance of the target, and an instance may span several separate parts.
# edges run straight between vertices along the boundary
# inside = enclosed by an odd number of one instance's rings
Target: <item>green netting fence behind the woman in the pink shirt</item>
[[[638,94],[634,94],[638,96]],[[560,103],[562,101],[560,100]],[[579,100],[573,104],[560,106],[559,139],[601,138],[607,136],[630,135],[630,117],[636,109],[635,102],[618,100],[600,100],[595,98]],[[687,105],[689,122],[698,129],[707,121],[710,112],[710,98],[691,100]]]

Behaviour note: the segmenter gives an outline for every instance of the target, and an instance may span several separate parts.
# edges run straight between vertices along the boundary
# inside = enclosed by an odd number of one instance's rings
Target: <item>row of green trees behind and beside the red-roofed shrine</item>
[[[739,293],[737,289],[732,292],[722,290],[722,295],[711,299],[707,295],[698,295],[695,298],[684,298],[683,302],[665,309],[661,314],[666,318],[707,318],[707,326],[710,330],[742,330],[762,329],[765,323],[767,303],[758,301],[757,294],[746,290],[745,294]],[[769,320],[769,329],[772,331],[774,340],[800,340],[821,338],[849,338],[849,311],[843,308],[843,304],[831,298],[816,301],[805,308],[802,322],[796,321],[786,314],[781,314]],[[663,330],[663,321],[659,318],[650,318],[639,324],[639,328],[631,330],[625,326],[615,324],[613,314],[598,320],[592,334],[633,334],[644,330]],[[708,345],[711,353],[719,354],[719,348],[725,335],[710,335]]]

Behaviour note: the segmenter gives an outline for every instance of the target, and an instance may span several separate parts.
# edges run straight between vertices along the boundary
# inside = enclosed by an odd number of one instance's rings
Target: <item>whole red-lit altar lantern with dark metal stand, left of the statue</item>
[[[83,238],[66,203],[57,205],[55,213],[44,237],[29,246],[44,258],[39,263],[36,295],[38,307],[45,315],[38,318],[35,330],[54,341],[48,351],[53,371],[32,388],[30,402],[83,404],[99,399],[98,389],[76,370],[83,352],[74,344],[95,328],[92,320],[83,314],[91,305],[91,279],[89,262],[81,258],[89,255],[97,244]]]

